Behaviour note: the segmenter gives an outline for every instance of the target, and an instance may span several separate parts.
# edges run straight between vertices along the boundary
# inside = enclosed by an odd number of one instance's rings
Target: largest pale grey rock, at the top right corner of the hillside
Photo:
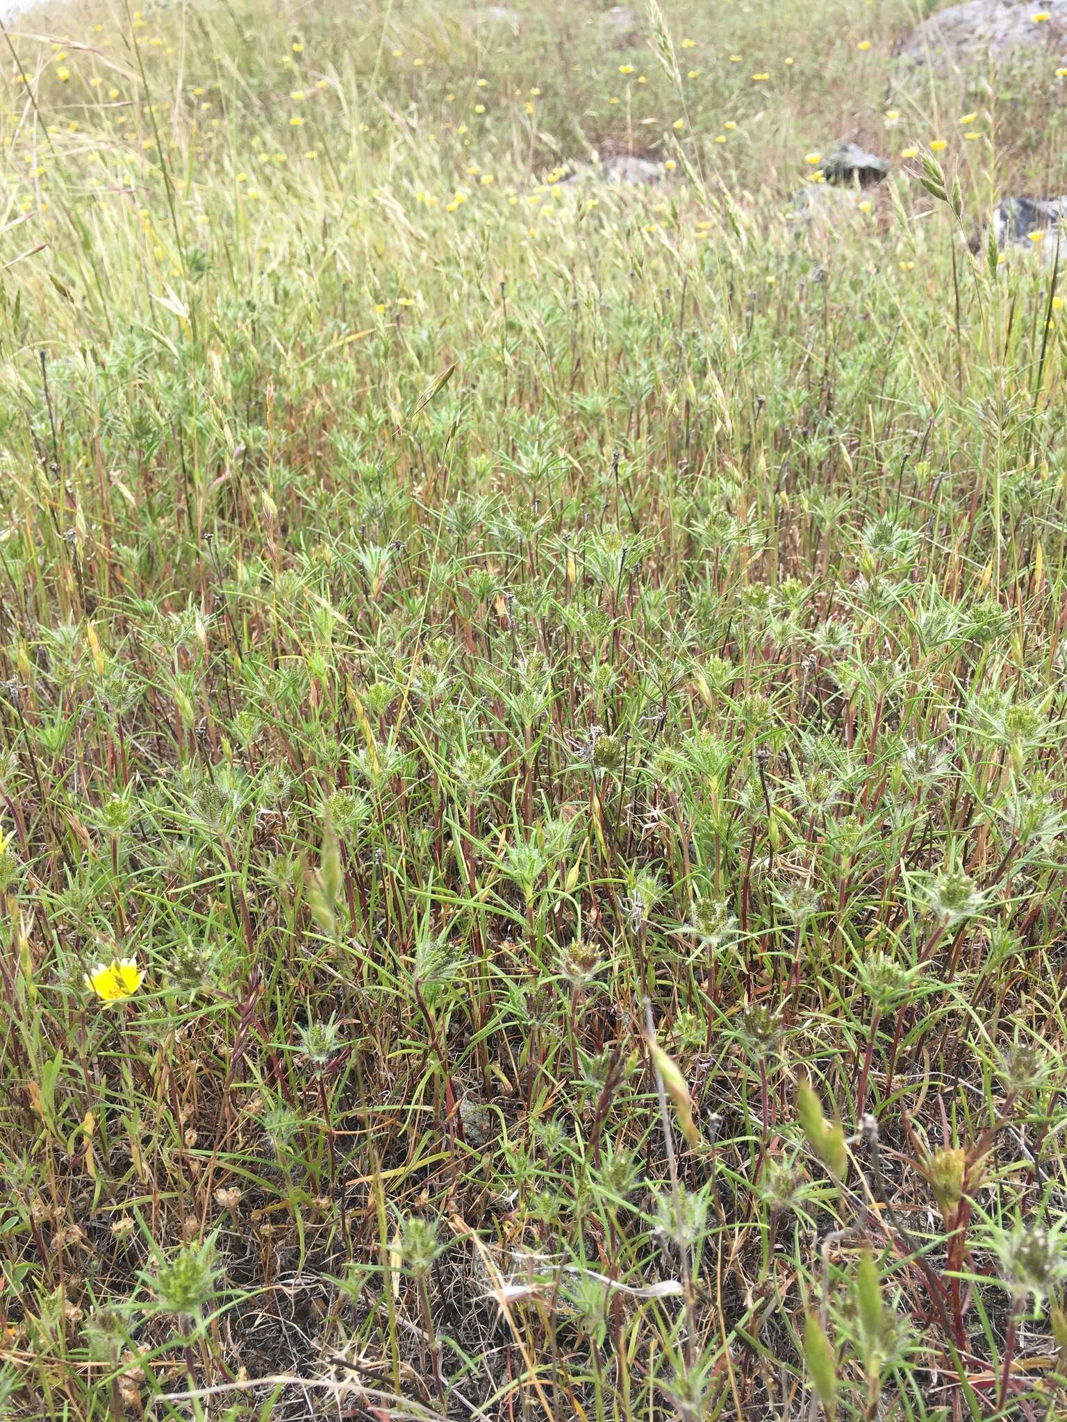
[[[1040,10],[1049,18],[1036,23]],[[1067,53],[1067,0],[963,0],[918,24],[898,54],[912,65],[966,67],[1027,48]]]

